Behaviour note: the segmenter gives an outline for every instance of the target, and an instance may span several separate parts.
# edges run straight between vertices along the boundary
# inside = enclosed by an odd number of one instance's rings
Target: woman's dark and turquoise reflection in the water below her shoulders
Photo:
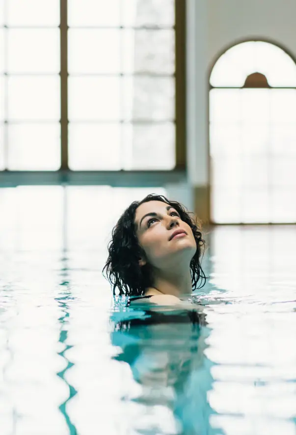
[[[124,401],[142,405],[134,429],[141,434],[214,434],[207,401],[212,362],[204,355],[210,334],[198,310],[153,308],[113,315],[113,358],[127,363],[140,386]],[[134,311],[134,317],[132,317]],[[139,315],[140,314],[140,315]],[[120,319],[120,320],[119,320]]]

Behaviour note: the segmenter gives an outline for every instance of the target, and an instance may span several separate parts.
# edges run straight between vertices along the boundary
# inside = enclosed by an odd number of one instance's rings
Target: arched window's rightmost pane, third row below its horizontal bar
[[[276,186],[294,186],[296,201],[296,156],[294,157],[274,157],[271,162],[270,184]]]

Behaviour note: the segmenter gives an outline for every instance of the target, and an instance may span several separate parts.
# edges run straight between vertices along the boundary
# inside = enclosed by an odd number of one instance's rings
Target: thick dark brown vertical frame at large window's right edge
[[[186,168],[186,0],[175,0],[176,169]]]

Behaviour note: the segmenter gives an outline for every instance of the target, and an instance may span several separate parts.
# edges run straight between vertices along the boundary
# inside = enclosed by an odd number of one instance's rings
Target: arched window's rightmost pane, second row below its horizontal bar
[[[296,155],[296,123],[273,123],[270,126],[270,151],[277,155]]]

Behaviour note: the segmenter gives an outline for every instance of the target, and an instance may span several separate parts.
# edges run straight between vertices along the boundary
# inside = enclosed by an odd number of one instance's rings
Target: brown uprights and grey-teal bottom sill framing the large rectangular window
[[[111,184],[113,186],[159,186],[186,180],[186,1],[175,8],[175,167],[171,170],[71,170],[68,164],[68,4],[60,0],[60,168],[54,171],[0,171],[0,185],[19,184]]]

